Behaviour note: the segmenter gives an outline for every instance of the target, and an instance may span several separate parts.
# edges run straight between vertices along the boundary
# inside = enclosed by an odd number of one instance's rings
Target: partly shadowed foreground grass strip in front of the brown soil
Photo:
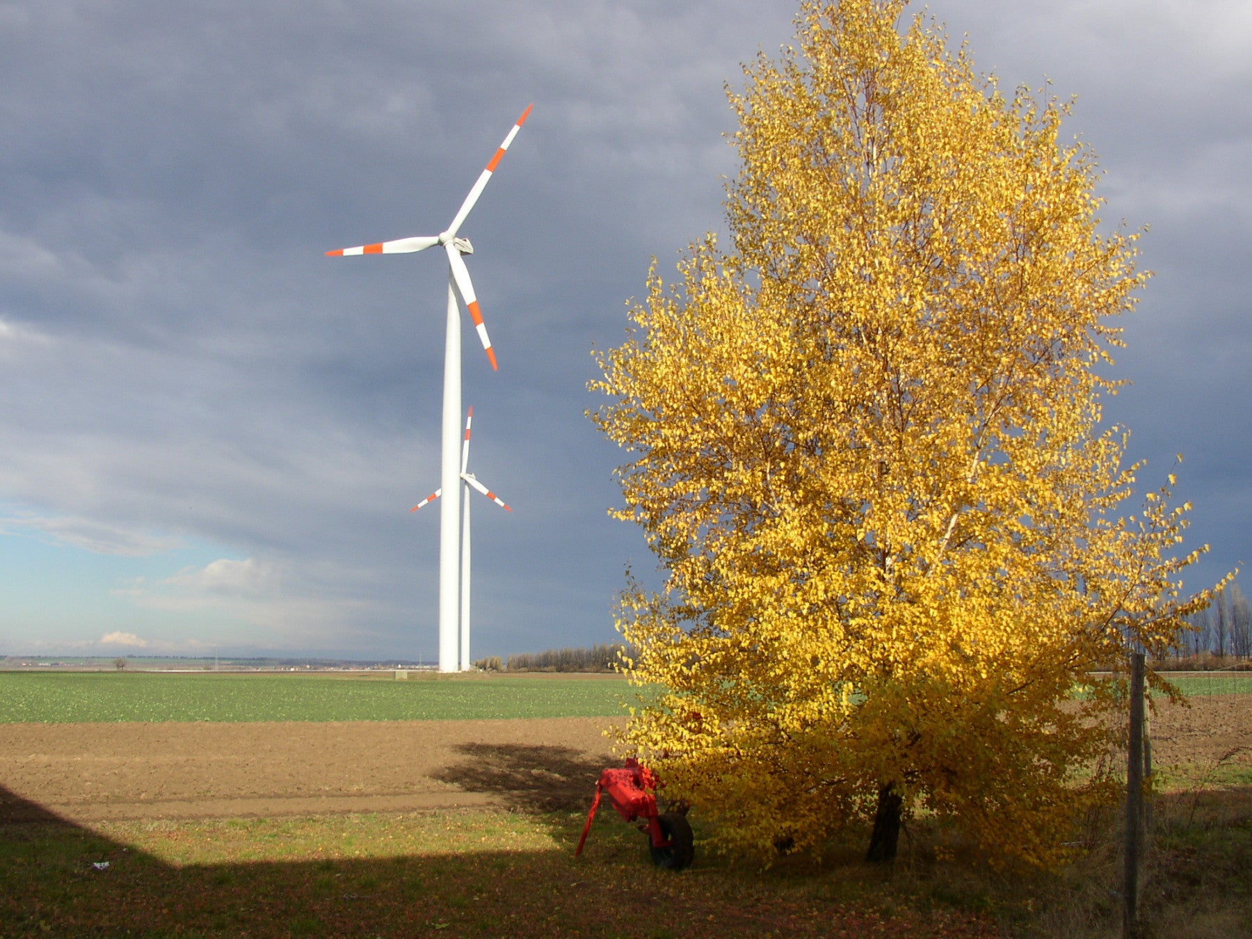
[[[1055,874],[934,859],[914,824],[894,869],[831,845],[760,871],[699,854],[672,874],[642,835],[581,811],[0,825],[0,936],[1067,936],[1119,930],[1117,813]],[[697,820],[697,834],[699,834]],[[1252,790],[1157,803],[1148,936],[1252,935]],[[94,865],[108,863],[108,869]]]

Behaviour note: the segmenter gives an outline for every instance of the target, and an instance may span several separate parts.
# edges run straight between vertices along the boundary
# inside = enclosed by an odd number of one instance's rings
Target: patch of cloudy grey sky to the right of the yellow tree
[[[990,54],[1013,63],[1014,80],[1048,75],[1058,95],[1077,94],[1067,126],[1107,173],[1103,217],[1149,228],[1141,263],[1156,275],[1117,356],[1132,384],[1106,417],[1131,427],[1132,458],[1148,459],[1142,488],[1184,454],[1188,543],[1213,547],[1188,582],[1206,586],[1252,561],[1252,10],[1116,0],[982,13],[965,26],[994,36],[975,46],[979,63]]]

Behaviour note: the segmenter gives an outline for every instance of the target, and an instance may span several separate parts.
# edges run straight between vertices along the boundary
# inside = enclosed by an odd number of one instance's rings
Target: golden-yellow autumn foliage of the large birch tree
[[[1179,596],[1187,506],[1123,517],[1138,467],[1101,427],[1136,235],[1099,232],[1065,105],[1003,96],[904,5],[804,3],[745,68],[730,250],[654,267],[597,353],[615,515],[664,573],[622,596],[661,689],[625,740],[734,854],[816,850],[886,790],[1053,864],[1114,791],[1128,646],[1207,592]]]

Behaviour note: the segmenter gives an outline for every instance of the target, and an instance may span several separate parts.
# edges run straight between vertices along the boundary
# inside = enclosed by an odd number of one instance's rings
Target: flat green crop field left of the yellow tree
[[[608,717],[617,676],[0,672],[0,724]]]

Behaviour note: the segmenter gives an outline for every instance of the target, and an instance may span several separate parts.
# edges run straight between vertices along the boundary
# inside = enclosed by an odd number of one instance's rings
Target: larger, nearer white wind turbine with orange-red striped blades
[[[491,359],[492,369],[496,368],[496,353],[492,352],[491,341],[487,338],[487,327],[482,322],[482,313],[478,310],[478,299],[470,282],[470,270],[461,255],[472,254],[473,245],[464,238],[458,238],[457,232],[464,223],[466,217],[482,195],[483,187],[496,172],[496,167],[508,145],[513,143],[517,131],[531,113],[530,105],[517,119],[505,143],[496,150],[491,163],[478,175],[477,182],[470,190],[457,214],[452,218],[443,232],[437,235],[418,235],[416,238],[401,238],[394,242],[381,242],[378,244],[363,244],[357,248],[341,248],[327,252],[331,257],[349,254],[411,254],[426,250],[437,244],[443,245],[448,255],[448,316],[447,337],[443,346],[443,454],[441,461],[439,483],[441,487],[452,492],[461,478],[457,472],[457,431],[461,429],[461,322],[457,314],[457,294],[470,310],[475,329],[482,347]],[[459,527],[459,502],[454,498],[443,501],[439,512],[439,671],[457,671],[457,541]]]

